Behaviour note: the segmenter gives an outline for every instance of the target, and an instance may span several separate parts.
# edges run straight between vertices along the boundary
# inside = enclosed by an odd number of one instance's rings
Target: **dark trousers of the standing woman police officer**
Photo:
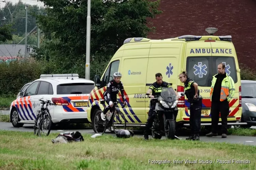
[[[191,105],[192,104],[192,105]],[[189,125],[191,129],[191,136],[198,135],[201,131],[201,110],[202,107],[198,104],[191,103],[190,104],[190,119]]]

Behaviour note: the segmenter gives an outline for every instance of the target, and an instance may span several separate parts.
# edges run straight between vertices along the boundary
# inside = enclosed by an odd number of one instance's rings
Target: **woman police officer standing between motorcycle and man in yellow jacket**
[[[200,140],[202,99],[199,98],[198,84],[189,79],[186,72],[182,72],[179,75],[179,79],[184,83],[186,97],[191,100],[189,107],[191,135],[186,140]]]

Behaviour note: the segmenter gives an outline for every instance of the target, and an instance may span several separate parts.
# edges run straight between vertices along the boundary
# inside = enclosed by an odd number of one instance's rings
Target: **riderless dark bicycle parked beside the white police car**
[[[41,101],[42,106],[41,106],[40,111],[37,111],[37,118],[35,119],[35,124],[34,124],[34,135],[41,137],[41,135],[44,134],[44,128],[46,127],[46,128],[48,128],[48,132],[46,133],[46,136],[48,136],[51,131],[52,119],[51,119],[51,116],[47,109],[47,106],[48,105],[56,105],[56,104],[52,103],[51,100],[43,101],[43,100],[39,99],[39,101]],[[46,104],[46,107],[44,108],[45,104]],[[42,130],[42,132],[41,132],[41,130]],[[46,131],[47,131],[47,129],[46,129]]]

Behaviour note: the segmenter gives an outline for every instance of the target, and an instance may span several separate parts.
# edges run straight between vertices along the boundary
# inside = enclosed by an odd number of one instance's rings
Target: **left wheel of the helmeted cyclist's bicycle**
[[[101,119],[101,116],[100,116],[101,112],[102,111],[100,109],[95,111],[93,129],[95,133],[99,133],[103,135],[106,131],[106,121],[103,121]]]

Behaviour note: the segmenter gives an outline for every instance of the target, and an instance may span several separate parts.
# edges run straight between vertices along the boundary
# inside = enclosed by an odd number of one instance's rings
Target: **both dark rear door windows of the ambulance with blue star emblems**
[[[225,56],[198,56],[187,57],[186,71],[188,77],[194,80],[198,86],[210,87],[212,77],[218,73],[218,64],[226,64],[226,73],[229,74],[234,83],[237,82],[237,71],[234,57]]]

